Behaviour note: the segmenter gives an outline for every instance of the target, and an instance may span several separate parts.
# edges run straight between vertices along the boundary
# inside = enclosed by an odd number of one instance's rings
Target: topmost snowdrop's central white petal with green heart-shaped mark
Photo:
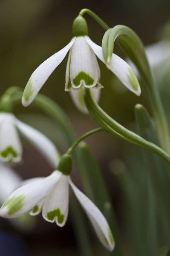
[[[77,89],[82,84],[94,87],[100,79],[100,69],[94,52],[84,37],[76,37],[71,49],[70,81]]]

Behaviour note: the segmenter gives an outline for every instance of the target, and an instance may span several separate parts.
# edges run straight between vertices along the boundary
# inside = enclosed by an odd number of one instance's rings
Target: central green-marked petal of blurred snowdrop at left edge
[[[0,124],[0,160],[19,162],[21,157],[22,146],[15,128],[15,117],[4,113]]]

